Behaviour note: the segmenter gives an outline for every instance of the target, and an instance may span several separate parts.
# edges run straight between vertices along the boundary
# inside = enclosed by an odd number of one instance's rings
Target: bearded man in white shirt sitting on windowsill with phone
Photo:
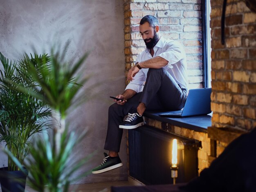
[[[103,173],[123,164],[118,156],[123,129],[144,125],[142,117],[147,110],[176,111],[184,107],[187,98],[186,54],[180,43],[160,35],[159,23],[154,16],[141,19],[139,32],[146,49],[128,72],[130,83],[120,100],[108,110],[108,132],[105,158],[93,174]],[[127,116],[128,115],[128,116]],[[124,120],[124,117],[127,118]]]

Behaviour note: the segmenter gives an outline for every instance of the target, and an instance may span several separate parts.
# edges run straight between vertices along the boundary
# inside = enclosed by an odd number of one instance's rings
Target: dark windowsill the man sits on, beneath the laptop
[[[182,118],[168,118],[160,117],[158,114],[162,112],[152,112],[146,111],[143,116],[161,121],[164,123],[169,123],[178,127],[184,127],[187,129],[192,129],[197,132],[207,132],[207,127],[211,127],[211,115],[202,115],[202,116],[191,116],[191,117],[182,117]]]

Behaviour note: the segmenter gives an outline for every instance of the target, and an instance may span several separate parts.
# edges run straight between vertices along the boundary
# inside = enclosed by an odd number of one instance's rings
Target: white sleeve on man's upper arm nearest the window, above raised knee
[[[173,68],[173,64],[185,58],[185,51],[179,42],[166,42],[165,51],[158,56],[168,60],[168,67]]]

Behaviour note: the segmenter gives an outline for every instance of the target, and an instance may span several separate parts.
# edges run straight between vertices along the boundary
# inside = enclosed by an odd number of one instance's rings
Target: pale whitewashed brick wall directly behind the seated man
[[[189,89],[202,87],[201,0],[124,0],[126,76],[137,55],[145,49],[139,21],[146,15],[158,18],[164,38],[184,45]]]

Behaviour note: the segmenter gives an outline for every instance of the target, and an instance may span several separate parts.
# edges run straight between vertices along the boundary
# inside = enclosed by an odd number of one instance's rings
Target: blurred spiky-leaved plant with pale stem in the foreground
[[[65,119],[68,114],[67,109],[70,112],[71,107],[81,103],[84,100],[82,98],[86,98],[83,92],[83,94],[78,93],[88,79],[81,73],[81,66],[88,54],[84,54],[76,63],[66,62],[66,48],[67,46],[63,51],[52,49],[49,62],[45,60],[41,63],[39,70],[36,70],[29,56],[26,56],[26,63],[29,66],[27,71],[36,80],[36,85],[42,89],[38,91],[37,86],[32,86],[32,90],[18,87],[22,92],[46,103],[52,109],[52,117],[55,120],[52,126],[52,138],[44,134],[42,139],[38,139],[30,148],[31,155],[23,164],[10,151],[7,151],[18,167],[25,165],[29,171],[27,177],[29,186],[41,192],[45,190],[67,192],[73,180],[88,174],[85,172],[74,176],[74,172],[92,156],[90,154],[79,161],[70,161],[70,155],[82,136],[68,132]]]

